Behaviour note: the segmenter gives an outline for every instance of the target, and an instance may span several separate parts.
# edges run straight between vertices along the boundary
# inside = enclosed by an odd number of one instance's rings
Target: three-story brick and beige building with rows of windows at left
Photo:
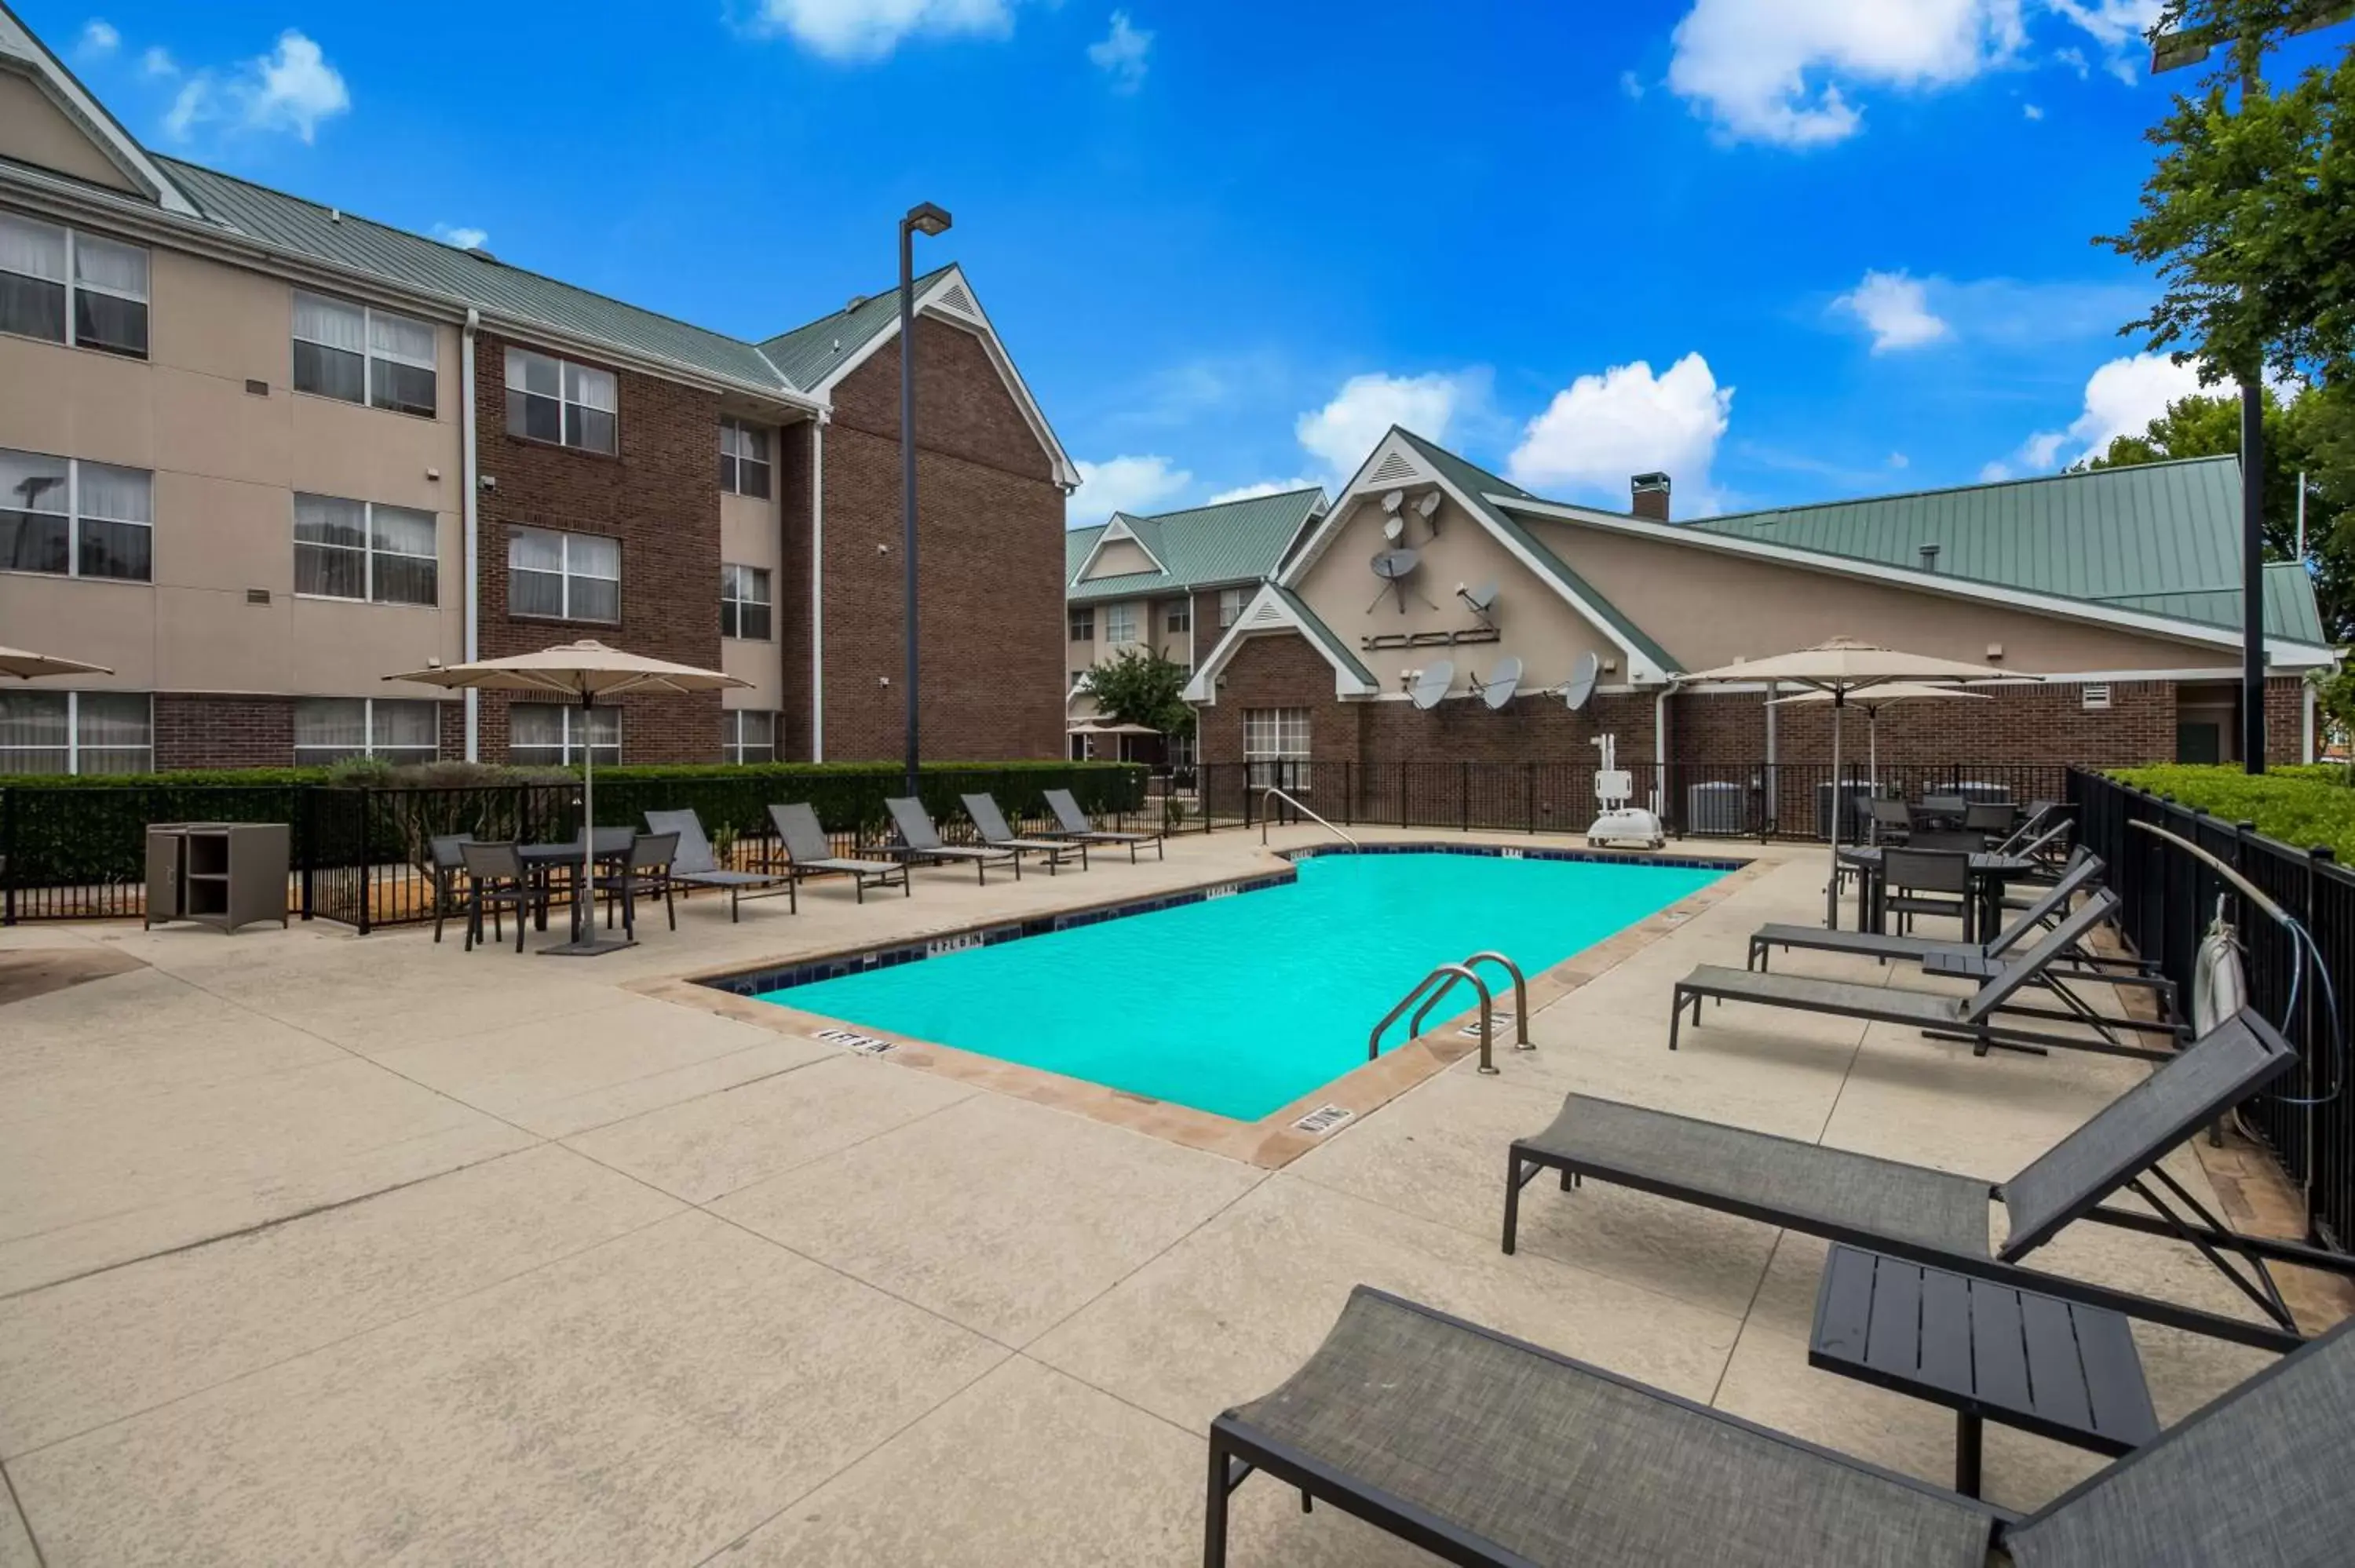
[[[706,332],[151,153],[5,7],[0,285],[0,626],[113,671],[0,772],[900,753],[895,292]],[[926,756],[1060,756],[1079,473],[956,266],[916,410]],[[749,685],[384,683],[577,638]]]

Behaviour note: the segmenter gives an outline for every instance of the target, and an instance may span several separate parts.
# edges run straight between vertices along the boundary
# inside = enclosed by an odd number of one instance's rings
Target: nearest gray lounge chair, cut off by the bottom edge
[[[1356,1285],[1274,1394],[1210,1422],[1203,1563],[1267,1471],[1451,1563],[2320,1568],[2355,1537],[2355,1323],[2035,1514]]]

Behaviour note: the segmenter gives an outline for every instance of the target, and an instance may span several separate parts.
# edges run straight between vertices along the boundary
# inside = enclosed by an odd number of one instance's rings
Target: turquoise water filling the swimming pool
[[[1236,892],[817,979],[763,1001],[1255,1121],[1366,1062],[1439,963],[1552,968],[1724,869],[1495,855],[1316,855]],[[1488,968],[1491,984],[1502,975]],[[1472,1005],[1458,989],[1446,1012]],[[1498,996],[1512,1005],[1510,986]],[[1406,1034],[1392,1024],[1385,1048]]]

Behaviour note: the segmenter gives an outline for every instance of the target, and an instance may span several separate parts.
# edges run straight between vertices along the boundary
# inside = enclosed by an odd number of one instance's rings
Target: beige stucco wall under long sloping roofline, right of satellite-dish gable
[[[2221,669],[2235,659],[2225,647],[1813,572],[1707,546],[1639,539],[1575,523],[1531,518],[1524,523],[1684,669],[1759,659],[1832,636],[1971,662],[1985,662],[1988,645],[2002,643],[2002,666],[2030,673]]]

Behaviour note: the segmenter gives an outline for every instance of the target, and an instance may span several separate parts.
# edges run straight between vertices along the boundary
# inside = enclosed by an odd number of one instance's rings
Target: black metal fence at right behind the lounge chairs
[[[2072,772],[2068,798],[2082,843],[2108,862],[2108,883],[2124,902],[2120,928],[2185,996],[2200,942],[2223,911],[2242,949],[2249,1003],[2298,1048],[2303,1064],[2284,1088],[2242,1107],[2242,1125],[2306,1189],[2310,1238],[2334,1248],[2355,1243],[2355,1088],[2346,1083],[2343,1038],[2329,1008],[2329,991],[2339,1008],[2355,1005],[2355,873],[2327,848],[2275,843],[2247,822],[2218,822],[2101,775]],[[2136,829],[2138,822],[2200,845],[2249,878],[2313,935],[2320,963],[2310,954],[2301,970],[2287,928],[2254,909],[2214,866]]]

